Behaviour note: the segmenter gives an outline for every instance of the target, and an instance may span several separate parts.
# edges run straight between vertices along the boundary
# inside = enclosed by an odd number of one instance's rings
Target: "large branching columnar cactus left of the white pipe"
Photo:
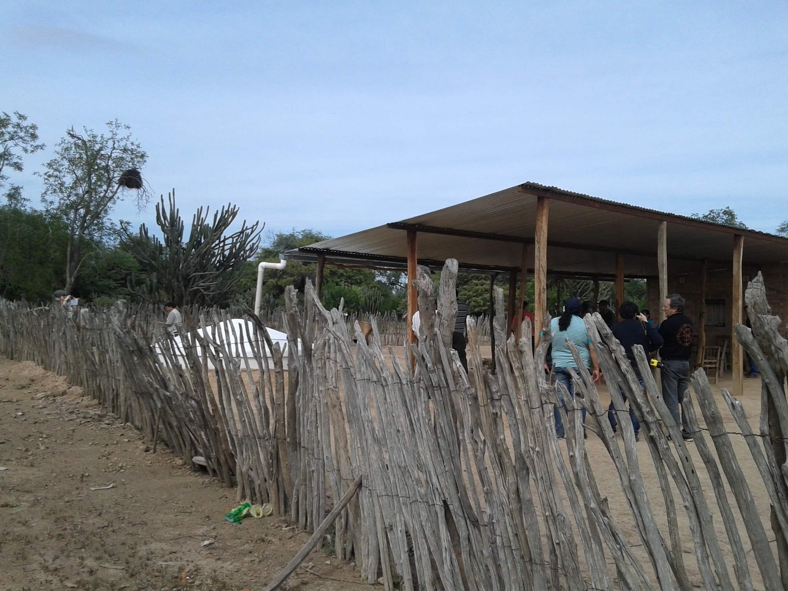
[[[179,305],[225,307],[235,299],[243,263],[255,255],[260,245],[258,223],[243,221],[236,232],[228,233],[238,216],[238,207],[229,203],[208,222],[210,210],[200,207],[192,217],[188,238],[184,221],[169,195],[156,205],[156,223],[163,240],[151,236],[146,225],[136,236],[127,236],[124,248],[139,262],[146,279],[130,286],[148,301],[173,300]]]

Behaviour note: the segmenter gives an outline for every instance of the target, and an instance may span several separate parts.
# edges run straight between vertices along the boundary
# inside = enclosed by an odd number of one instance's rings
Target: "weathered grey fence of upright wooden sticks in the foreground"
[[[196,310],[176,341],[140,309],[69,318],[58,307],[0,302],[0,352],[67,376],[188,462],[202,456],[239,499],[270,502],[300,529],[325,529],[330,514],[336,556],[385,589],[788,589],[788,342],[760,275],[746,296],[753,329],[736,329],[763,375],[760,425],[698,371],[683,404],[690,443],[645,353],[636,348],[636,370],[598,315],[585,324],[623,438],[577,351],[577,395],[552,384],[543,370],[548,323],[536,351],[527,320],[525,338],[507,338],[500,290],[496,372],[482,363],[479,322],[470,319],[466,373],[451,348],[456,273],[448,261],[440,289],[448,296],[436,301],[428,269],[419,269],[413,366],[385,342],[388,320],[371,318],[367,344],[358,322],[349,331],[348,317],[325,310],[310,284],[303,308],[286,293],[286,351],[253,315],[233,325],[226,312]],[[253,345],[251,356],[234,356],[239,340]],[[556,408],[565,440],[556,438]],[[722,408],[738,432],[726,429]],[[600,480],[586,430],[601,439],[617,486]],[[760,481],[745,477],[753,465]],[[617,507],[612,492],[623,499]],[[340,499],[347,505],[331,512]]]

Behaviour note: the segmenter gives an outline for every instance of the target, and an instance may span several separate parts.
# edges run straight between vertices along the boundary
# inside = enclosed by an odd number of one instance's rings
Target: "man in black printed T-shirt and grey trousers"
[[[692,321],[684,314],[684,298],[678,293],[665,298],[662,310],[667,316],[660,324],[660,335],[664,344],[660,348],[662,358],[662,397],[667,410],[671,411],[676,425],[682,426],[682,437],[692,440],[687,429],[686,416],[681,411],[684,394],[689,388],[689,356],[693,347]]]

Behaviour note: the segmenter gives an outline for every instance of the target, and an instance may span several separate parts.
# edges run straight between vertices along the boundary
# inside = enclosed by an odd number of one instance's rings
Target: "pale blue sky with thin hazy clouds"
[[[0,111],[118,119],[181,212],[329,236],[526,181],[788,219],[788,2],[7,2]],[[154,222],[121,204],[115,217]]]

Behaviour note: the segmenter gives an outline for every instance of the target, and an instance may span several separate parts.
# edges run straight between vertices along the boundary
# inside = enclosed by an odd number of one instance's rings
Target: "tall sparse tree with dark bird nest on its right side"
[[[116,119],[106,127],[106,134],[87,128],[77,133],[69,128],[42,175],[43,202],[69,229],[66,292],[80,273],[84,251],[90,251],[91,244],[102,243],[116,229],[110,214],[130,191],[119,182],[121,175],[128,169],[141,169],[147,162],[147,153],[132,139],[128,125]],[[132,190],[137,206],[148,203],[151,194],[144,185]]]

